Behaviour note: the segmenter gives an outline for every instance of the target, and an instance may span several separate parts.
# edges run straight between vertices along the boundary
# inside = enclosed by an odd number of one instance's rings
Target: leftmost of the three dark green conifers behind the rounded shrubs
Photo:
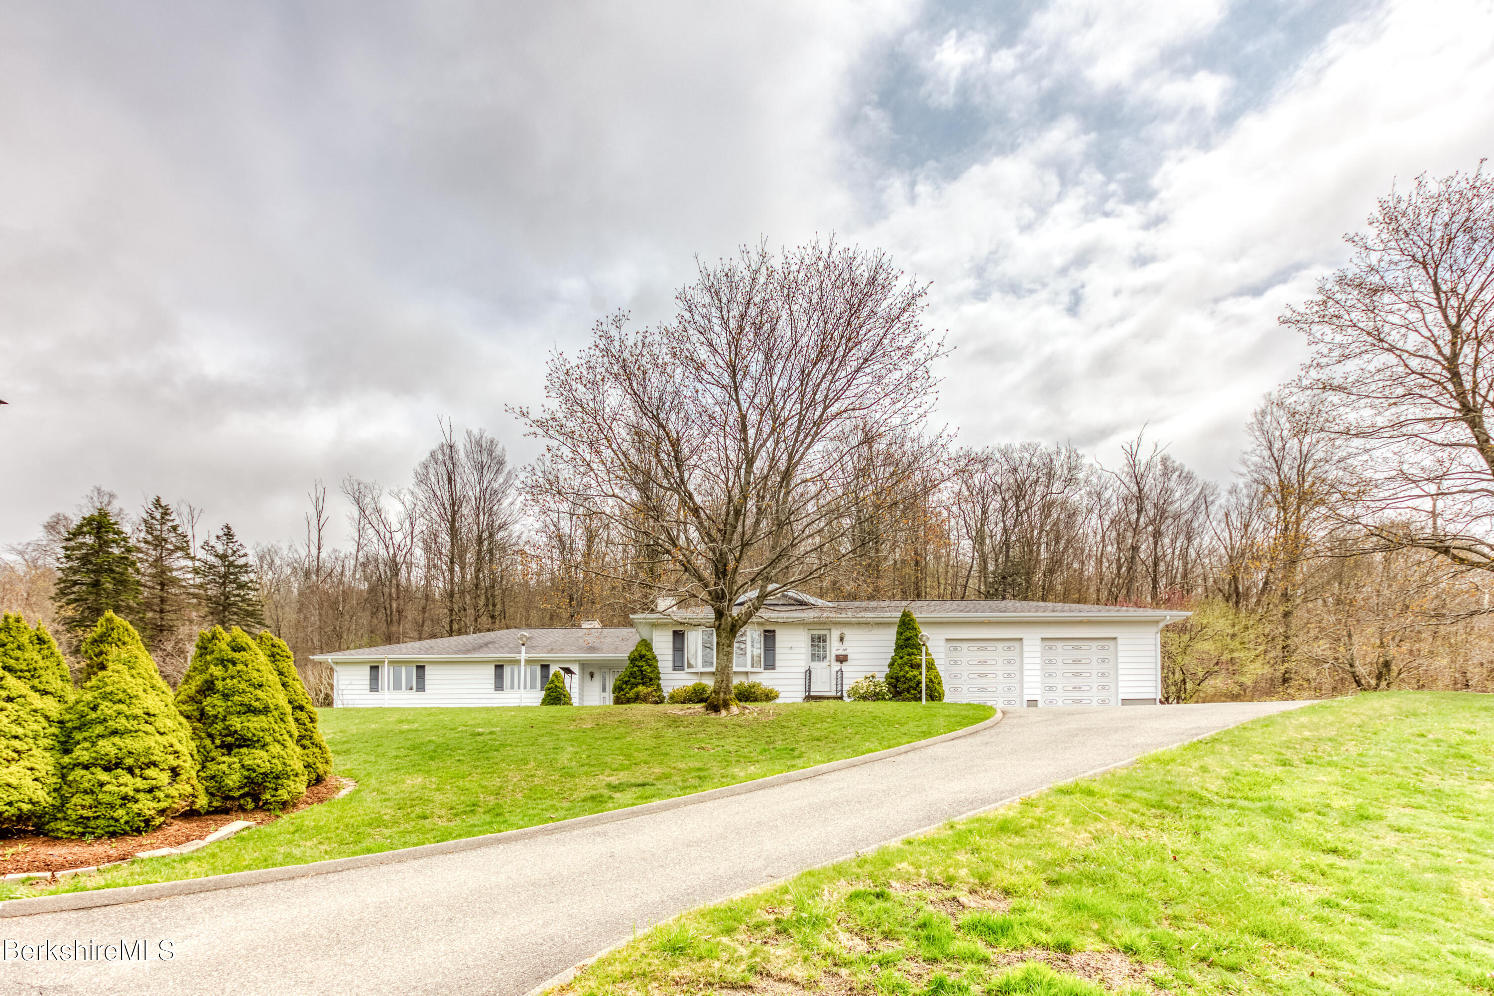
[[[134,544],[108,508],[84,515],[63,538],[52,602],[67,627],[79,633],[105,612],[131,615],[139,606]]]

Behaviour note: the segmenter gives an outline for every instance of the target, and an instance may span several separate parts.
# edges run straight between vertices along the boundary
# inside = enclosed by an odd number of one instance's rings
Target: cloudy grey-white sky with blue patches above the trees
[[[441,417],[526,460],[550,349],[816,233],[932,282],[965,443],[1225,479],[1276,315],[1491,151],[1464,0],[0,1],[0,542],[94,484],[288,539]]]

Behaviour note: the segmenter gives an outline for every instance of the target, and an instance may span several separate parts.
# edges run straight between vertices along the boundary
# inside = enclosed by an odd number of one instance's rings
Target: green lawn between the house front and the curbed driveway
[[[79,875],[51,891],[197,878],[568,820],[949,733],[982,705],[822,702],[716,718],[677,706],[321,709],[344,799],[194,854]],[[0,887],[0,897],[39,894]]]

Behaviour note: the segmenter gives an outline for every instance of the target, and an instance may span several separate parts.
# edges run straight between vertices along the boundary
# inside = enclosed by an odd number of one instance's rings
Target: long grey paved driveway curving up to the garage
[[[1019,709],[898,757],[604,826],[0,920],[0,939],[19,944],[143,938],[175,950],[167,962],[7,960],[0,992],[520,996],[684,909],[1298,705]]]

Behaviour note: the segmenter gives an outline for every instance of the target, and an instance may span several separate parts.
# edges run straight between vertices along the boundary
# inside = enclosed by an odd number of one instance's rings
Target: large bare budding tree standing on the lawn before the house
[[[619,573],[705,605],[725,651],[774,588],[861,548],[852,487],[865,502],[937,485],[861,458],[928,415],[940,343],[923,296],[881,252],[834,242],[702,266],[672,321],[629,332],[617,315],[575,360],[551,357],[550,405],[520,412],[548,443],[529,493],[654,558]],[[720,653],[708,708],[731,690]]]

